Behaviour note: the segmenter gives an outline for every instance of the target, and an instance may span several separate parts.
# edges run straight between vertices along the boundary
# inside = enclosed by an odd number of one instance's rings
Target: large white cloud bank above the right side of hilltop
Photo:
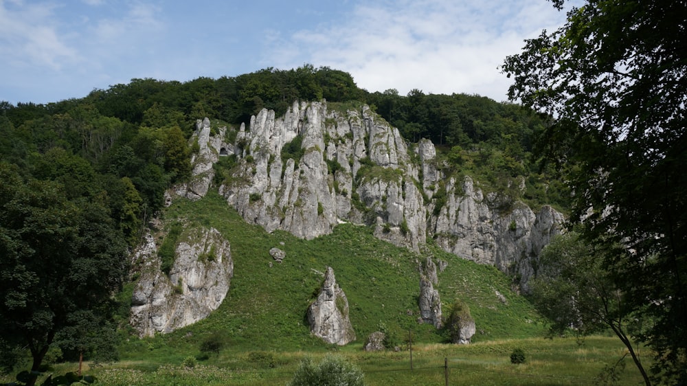
[[[352,74],[369,91],[479,93],[505,100],[509,80],[499,72],[523,39],[565,19],[545,0],[397,1],[357,5],[352,14],[317,30],[275,42],[288,68],[328,65]]]

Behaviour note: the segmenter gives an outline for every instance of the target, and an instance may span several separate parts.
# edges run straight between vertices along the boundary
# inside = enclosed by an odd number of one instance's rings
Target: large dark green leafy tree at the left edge
[[[126,273],[126,244],[105,207],[68,201],[52,181],[25,180],[0,163],[0,352],[11,370],[28,348],[32,372],[50,345],[113,353],[111,295]],[[109,342],[105,345],[104,343]],[[33,385],[36,375],[27,385]]]

